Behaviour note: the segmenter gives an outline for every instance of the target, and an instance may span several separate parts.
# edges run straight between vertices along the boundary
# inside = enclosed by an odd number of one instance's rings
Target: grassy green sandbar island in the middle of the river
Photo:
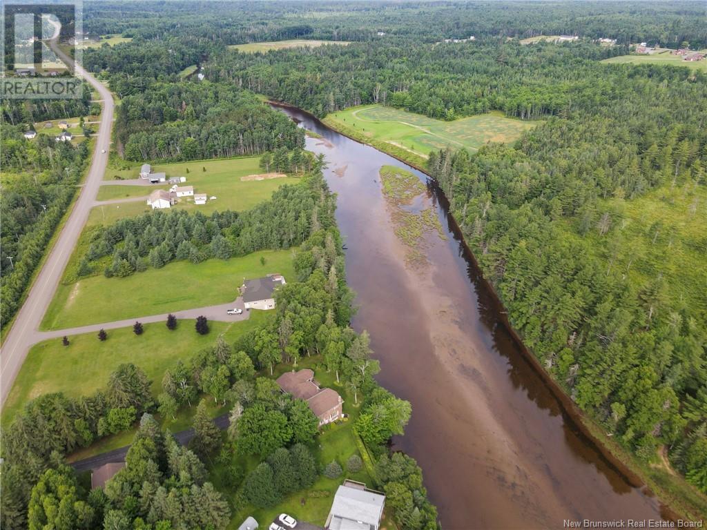
[[[405,260],[412,265],[426,263],[426,235],[437,232],[446,237],[433,208],[425,205],[427,189],[415,175],[392,165],[380,168],[383,195],[395,223],[395,235],[407,246]]]

